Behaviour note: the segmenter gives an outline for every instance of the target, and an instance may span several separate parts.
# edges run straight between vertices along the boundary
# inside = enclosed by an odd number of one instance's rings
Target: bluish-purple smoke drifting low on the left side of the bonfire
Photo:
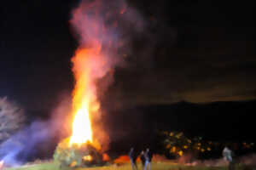
[[[36,120],[0,144],[0,160],[5,165],[19,166],[53,154],[56,140],[67,136],[70,129],[67,120],[71,101],[66,95],[62,97],[49,121]]]

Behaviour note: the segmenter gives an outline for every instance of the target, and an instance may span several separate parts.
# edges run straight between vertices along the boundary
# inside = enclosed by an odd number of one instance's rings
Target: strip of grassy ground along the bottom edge
[[[60,169],[59,165],[54,162],[34,164],[24,167],[16,168],[6,168],[6,170],[131,170],[131,165],[126,163],[121,166],[109,165],[105,167],[78,167],[78,168],[62,168]],[[153,162],[152,170],[227,170],[227,167],[203,167],[203,166],[183,166],[178,164],[173,164],[169,162]],[[142,170],[142,167],[138,165],[138,170]]]

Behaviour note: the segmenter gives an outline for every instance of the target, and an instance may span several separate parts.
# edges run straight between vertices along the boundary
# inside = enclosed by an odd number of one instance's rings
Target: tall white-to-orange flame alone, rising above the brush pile
[[[93,142],[90,114],[99,110],[96,100],[96,85],[93,78],[93,65],[90,59],[96,59],[99,48],[82,48],[73,57],[75,88],[73,90],[73,133],[69,144]]]

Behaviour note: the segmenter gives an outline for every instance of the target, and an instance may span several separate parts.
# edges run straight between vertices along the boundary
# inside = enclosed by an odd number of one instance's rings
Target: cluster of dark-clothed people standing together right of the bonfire
[[[137,152],[134,150],[134,148],[131,148],[129,152],[129,157],[131,160],[131,168],[132,170],[137,170],[137,157],[139,156],[141,163],[142,163],[142,169],[143,170],[151,170],[151,161],[153,154],[147,148],[147,150],[141,151],[141,153],[138,155]]]

